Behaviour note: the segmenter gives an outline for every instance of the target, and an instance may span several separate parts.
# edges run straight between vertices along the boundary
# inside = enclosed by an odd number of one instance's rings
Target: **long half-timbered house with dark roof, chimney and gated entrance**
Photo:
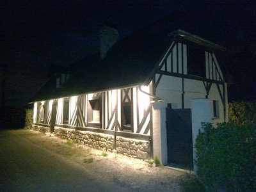
[[[225,49],[159,23],[122,39],[104,25],[99,35],[99,52],[52,68],[51,80],[33,99],[33,129],[126,156],[157,155],[163,164],[193,166],[196,122],[228,118],[227,77],[217,54]]]

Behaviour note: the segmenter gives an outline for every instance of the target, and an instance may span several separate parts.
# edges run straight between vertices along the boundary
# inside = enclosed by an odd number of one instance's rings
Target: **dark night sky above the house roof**
[[[7,66],[6,105],[29,102],[47,81],[50,65],[70,65],[97,51],[98,31],[105,20],[118,24],[122,38],[177,10],[198,18],[202,15],[205,24],[220,31],[218,44],[244,51],[248,63],[256,65],[252,59],[256,54],[255,1],[8,1],[0,3],[0,65]],[[239,58],[234,62],[239,63]],[[239,70],[231,69],[237,77]],[[0,75],[2,81],[3,67]]]

